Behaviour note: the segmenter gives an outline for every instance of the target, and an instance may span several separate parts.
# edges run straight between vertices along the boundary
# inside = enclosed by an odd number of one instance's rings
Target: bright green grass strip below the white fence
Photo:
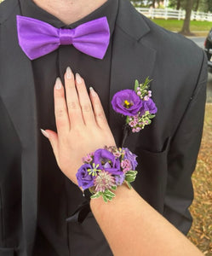
[[[153,22],[158,24],[159,26],[163,26],[165,29],[175,32],[180,32],[183,20],[163,20],[163,19],[153,19]],[[209,32],[212,27],[212,22],[209,21],[198,21],[191,20],[190,30],[191,32]]]

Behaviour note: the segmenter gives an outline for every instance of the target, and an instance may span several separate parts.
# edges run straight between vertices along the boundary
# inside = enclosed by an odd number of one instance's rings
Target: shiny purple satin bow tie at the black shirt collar
[[[87,55],[103,59],[110,41],[106,17],[91,20],[74,29],[65,29],[17,15],[17,30],[20,47],[31,60],[67,44],[73,44]]]

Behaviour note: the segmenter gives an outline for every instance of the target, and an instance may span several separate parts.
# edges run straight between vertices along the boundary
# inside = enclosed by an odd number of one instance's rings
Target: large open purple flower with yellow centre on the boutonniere
[[[120,90],[112,97],[112,108],[117,113],[134,116],[142,107],[140,96],[137,96],[135,90]]]

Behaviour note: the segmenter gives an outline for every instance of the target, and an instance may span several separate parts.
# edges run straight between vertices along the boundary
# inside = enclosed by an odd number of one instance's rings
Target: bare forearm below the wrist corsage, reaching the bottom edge
[[[114,255],[202,255],[134,189],[121,186],[110,203],[93,199],[91,210]]]

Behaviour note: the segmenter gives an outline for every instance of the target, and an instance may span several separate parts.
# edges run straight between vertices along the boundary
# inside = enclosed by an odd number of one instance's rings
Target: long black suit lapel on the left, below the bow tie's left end
[[[32,64],[18,44],[15,19],[1,27],[0,96],[22,146],[22,224],[31,255],[37,222],[37,112]]]

